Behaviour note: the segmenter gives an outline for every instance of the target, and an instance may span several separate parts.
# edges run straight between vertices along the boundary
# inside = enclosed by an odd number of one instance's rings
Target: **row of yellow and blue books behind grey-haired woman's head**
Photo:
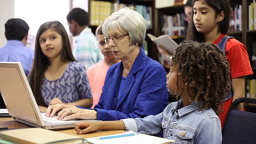
[[[118,2],[105,2],[98,0],[90,1],[90,25],[98,26],[113,12],[124,7],[131,7],[139,12],[146,20],[147,29],[152,29],[152,7],[134,4],[122,4]]]

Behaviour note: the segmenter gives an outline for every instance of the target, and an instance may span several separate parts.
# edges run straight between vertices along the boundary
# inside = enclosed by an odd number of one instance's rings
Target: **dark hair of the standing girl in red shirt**
[[[193,0],[192,6],[194,6],[195,2],[198,0]],[[225,17],[219,23],[218,30],[222,34],[226,34],[229,30],[229,22],[230,22],[230,3],[228,0],[204,0],[204,2],[215,10],[215,14],[218,15],[220,12],[224,11]],[[193,21],[194,14],[192,14],[191,20]],[[186,40],[195,40],[197,42],[205,42],[204,34],[200,33],[196,30],[196,26],[194,25],[194,21],[190,22],[188,25],[188,31],[186,35]]]

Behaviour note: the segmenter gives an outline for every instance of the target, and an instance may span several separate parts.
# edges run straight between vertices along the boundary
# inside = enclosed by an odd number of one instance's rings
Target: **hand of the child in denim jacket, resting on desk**
[[[82,121],[75,124],[75,131],[78,134],[86,134],[96,130],[98,130],[98,125],[96,122]]]

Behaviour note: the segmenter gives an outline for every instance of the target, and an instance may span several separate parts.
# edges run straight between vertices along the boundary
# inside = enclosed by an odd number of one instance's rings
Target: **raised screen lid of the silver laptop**
[[[42,125],[39,108],[20,62],[0,62],[0,92],[11,116]]]

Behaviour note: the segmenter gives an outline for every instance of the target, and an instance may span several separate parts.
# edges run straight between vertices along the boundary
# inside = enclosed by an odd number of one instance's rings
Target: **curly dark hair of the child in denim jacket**
[[[212,108],[219,115],[231,88],[229,63],[222,50],[216,44],[185,41],[172,57],[170,66],[174,64],[178,72],[175,93],[180,77],[180,94],[186,88],[190,100],[199,102],[199,110]]]

